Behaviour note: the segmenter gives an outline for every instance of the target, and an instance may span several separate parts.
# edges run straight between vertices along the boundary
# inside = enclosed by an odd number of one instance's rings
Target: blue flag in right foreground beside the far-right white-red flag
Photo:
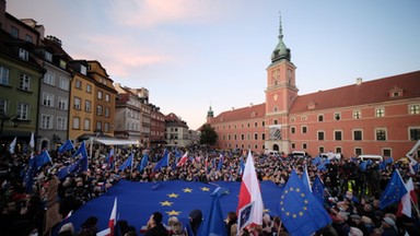
[[[380,208],[384,209],[388,205],[394,204],[395,202],[398,202],[406,193],[407,189],[404,185],[401,176],[399,175],[398,169],[395,169],[393,173],[393,177],[390,178],[388,185],[385,188],[385,191],[381,196]]]

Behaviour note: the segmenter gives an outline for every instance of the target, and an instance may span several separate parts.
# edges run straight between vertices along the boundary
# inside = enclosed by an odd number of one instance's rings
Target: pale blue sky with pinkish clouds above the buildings
[[[7,0],[7,11],[115,83],[148,88],[190,129],[210,106],[265,103],[280,16],[299,95],[420,69],[418,0]]]

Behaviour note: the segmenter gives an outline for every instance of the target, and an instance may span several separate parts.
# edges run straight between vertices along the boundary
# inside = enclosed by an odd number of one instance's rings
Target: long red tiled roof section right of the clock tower
[[[393,88],[400,88],[402,96],[390,97],[389,92]],[[290,109],[290,114],[412,97],[420,97],[420,71],[298,96]],[[311,104],[314,106],[312,109],[308,109]]]

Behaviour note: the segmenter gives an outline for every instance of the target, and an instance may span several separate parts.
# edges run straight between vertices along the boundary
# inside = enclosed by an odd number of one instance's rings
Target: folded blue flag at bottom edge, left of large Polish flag
[[[210,209],[207,211],[202,223],[198,228],[197,235],[224,236],[228,234],[224,224],[222,205],[220,204],[220,198],[222,194],[222,188],[218,188],[214,190]]]

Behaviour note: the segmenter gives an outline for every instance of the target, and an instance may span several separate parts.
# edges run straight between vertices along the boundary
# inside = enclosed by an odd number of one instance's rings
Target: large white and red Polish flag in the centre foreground
[[[255,172],[253,154],[249,150],[248,157],[246,158],[245,163],[244,175],[242,176],[240,200],[237,203],[236,212],[240,212],[242,208],[252,202],[254,202],[254,206],[249,215],[249,223],[252,225],[262,225],[262,197],[259,189],[257,173]]]

